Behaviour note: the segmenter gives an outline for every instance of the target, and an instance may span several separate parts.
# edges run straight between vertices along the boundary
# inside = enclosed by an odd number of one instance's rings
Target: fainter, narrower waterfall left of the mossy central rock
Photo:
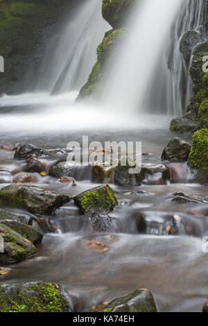
[[[110,29],[101,16],[101,4],[102,0],[85,0],[49,42],[37,90],[61,94],[82,87],[96,62],[96,47]]]

